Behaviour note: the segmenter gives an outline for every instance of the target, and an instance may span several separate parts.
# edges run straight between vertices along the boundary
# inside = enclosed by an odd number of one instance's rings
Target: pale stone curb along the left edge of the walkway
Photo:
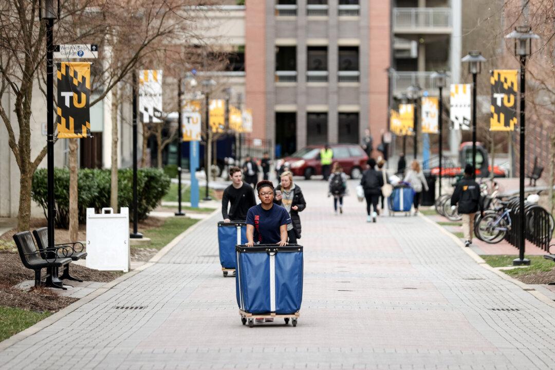
[[[118,285],[120,282],[123,282],[123,281],[127,280],[128,278],[137,275],[139,272],[141,272],[143,270],[146,270],[148,267],[153,266],[160,259],[162,259],[162,257],[164,255],[166,255],[185,236],[187,236],[190,232],[193,232],[197,227],[199,227],[200,224],[202,224],[206,220],[210,219],[210,217],[214,216],[216,213],[218,213],[218,211],[219,211],[218,209],[214,210],[214,212],[212,212],[208,217],[206,217],[206,219],[203,219],[203,220],[200,220],[200,221],[196,222],[193,226],[189,227],[187,230],[183,231],[181,234],[176,236],[172,241],[170,241],[168,244],[166,244],[166,246],[164,246],[161,250],[159,250],[158,253],[155,254],[144,265],[136,268],[133,271],[129,271],[127,273],[124,273],[122,276],[120,276],[118,278],[115,278],[114,280],[112,280],[110,282],[105,283],[105,285],[98,288],[94,292],[90,292],[88,295],[84,296],[83,298],[80,298],[78,301],[75,301],[71,305],[69,305],[65,308],[62,308],[62,310],[54,313],[51,316],[48,316],[44,320],[41,320],[41,321],[37,322],[35,325],[28,327],[26,330],[23,330],[19,333],[13,334],[13,336],[11,336],[7,339],[4,339],[4,341],[0,342],[0,351],[4,351],[5,349],[13,346],[13,344],[16,344],[19,341],[22,341],[23,339],[25,339],[29,336],[32,336],[33,334],[43,330],[44,328],[47,328],[47,327],[51,326],[53,323],[57,322],[58,320],[60,320],[61,318],[65,317],[65,316],[67,316],[69,313],[77,310],[77,308],[85,305],[85,303],[88,303],[88,302],[94,300],[94,298],[97,298],[98,296],[102,295],[103,293],[109,291],[110,289],[112,289],[113,287]]]

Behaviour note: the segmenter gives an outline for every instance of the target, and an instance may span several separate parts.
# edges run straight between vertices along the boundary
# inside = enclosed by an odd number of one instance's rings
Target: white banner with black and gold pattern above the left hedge
[[[162,122],[162,69],[139,71],[139,114],[142,123]]]

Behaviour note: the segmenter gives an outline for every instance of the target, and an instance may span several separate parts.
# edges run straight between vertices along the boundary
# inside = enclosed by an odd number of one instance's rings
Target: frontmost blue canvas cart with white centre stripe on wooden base
[[[275,244],[236,246],[235,277],[241,322],[253,327],[255,318],[283,318],[297,325],[302,301],[302,246]]]

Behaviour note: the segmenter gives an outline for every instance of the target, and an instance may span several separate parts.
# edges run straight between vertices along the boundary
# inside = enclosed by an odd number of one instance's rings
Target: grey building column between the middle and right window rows
[[[337,116],[337,105],[339,105],[338,89],[337,89],[337,70],[339,69],[339,49],[337,47],[337,35],[339,34],[339,24],[337,19],[337,0],[329,0],[329,24],[328,29],[328,45],[327,45],[327,70],[328,89],[327,89],[327,141],[335,144],[339,140],[339,123]]]

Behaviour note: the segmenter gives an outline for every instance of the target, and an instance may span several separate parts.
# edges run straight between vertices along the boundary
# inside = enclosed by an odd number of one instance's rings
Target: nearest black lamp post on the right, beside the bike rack
[[[529,265],[530,260],[524,258],[524,230],[526,222],[524,220],[524,154],[526,146],[526,57],[532,53],[532,40],[539,39],[539,36],[532,32],[530,26],[518,26],[513,32],[509,33],[505,38],[514,39],[514,54],[520,57],[520,173],[519,173],[519,187],[520,199],[518,210],[519,217],[519,236],[518,236],[518,258],[513,260],[514,266]]]

